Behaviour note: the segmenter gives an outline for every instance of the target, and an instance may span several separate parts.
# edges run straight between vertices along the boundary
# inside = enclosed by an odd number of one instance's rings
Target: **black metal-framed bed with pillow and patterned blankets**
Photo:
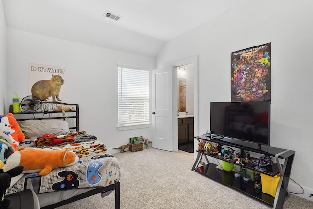
[[[58,106],[63,110],[58,110]],[[70,110],[65,107],[70,107]],[[105,144],[96,136],[80,131],[78,104],[43,102],[39,110],[14,113],[14,117],[26,136],[18,148],[59,150],[70,147],[79,157],[79,162],[53,169],[46,176],[25,173],[14,177],[6,196],[30,189],[36,193],[40,208],[50,209],[97,193],[104,197],[115,191],[115,203],[112,204],[115,204],[115,209],[120,208],[119,163],[106,152]],[[42,137],[47,133],[61,137],[69,135],[73,140],[64,137],[61,138],[63,141],[51,142]]]

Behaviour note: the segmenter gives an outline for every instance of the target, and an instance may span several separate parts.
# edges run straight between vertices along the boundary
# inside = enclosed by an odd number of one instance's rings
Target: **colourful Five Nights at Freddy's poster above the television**
[[[231,101],[270,101],[270,44],[231,53]]]

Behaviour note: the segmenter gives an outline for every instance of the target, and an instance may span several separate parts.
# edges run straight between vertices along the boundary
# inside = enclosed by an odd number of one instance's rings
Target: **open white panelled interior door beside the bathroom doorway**
[[[172,68],[152,70],[152,147],[173,152]]]

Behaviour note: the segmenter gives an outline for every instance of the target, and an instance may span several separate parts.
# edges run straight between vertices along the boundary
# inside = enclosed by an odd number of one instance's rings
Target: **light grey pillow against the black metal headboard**
[[[60,135],[69,133],[68,122],[65,120],[25,120],[20,124],[26,138],[42,137],[43,134]]]

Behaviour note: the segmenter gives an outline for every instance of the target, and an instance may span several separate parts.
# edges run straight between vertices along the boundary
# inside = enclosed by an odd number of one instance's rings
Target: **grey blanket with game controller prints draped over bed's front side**
[[[111,154],[83,157],[70,167],[57,168],[46,176],[25,174],[7,194],[31,189],[35,193],[74,188],[104,187],[119,181],[119,163]]]

